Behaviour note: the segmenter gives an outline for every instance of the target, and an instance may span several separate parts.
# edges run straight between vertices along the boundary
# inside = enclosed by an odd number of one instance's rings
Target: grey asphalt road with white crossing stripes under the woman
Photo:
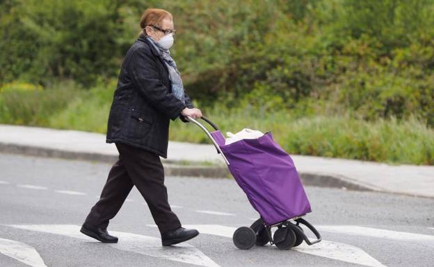
[[[278,250],[239,250],[236,227],[257,212],[232,179],[168,177],[172,209],[201,234],[161,247],[136,189],[104,244],[79,233],[109,164],[0,154],[0,266],[434,266],[434,199],[306,187],[307,221],[323,241]],[[411,178],[409,178],[411,182]]]

